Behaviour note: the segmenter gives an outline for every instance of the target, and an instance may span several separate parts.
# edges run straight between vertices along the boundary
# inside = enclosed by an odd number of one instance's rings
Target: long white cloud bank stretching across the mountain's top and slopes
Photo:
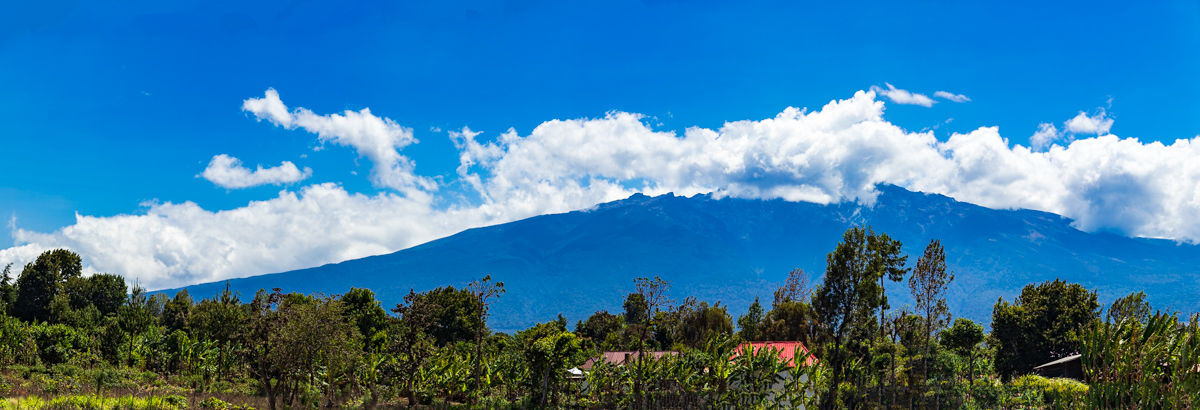
[[[896,103],[932,104],[890,85],[878,91]],[[76,224],[53,233],[13,227],[18,246],[0,251],[0,263],[14,261],[19,270],[42,249],[67,247],[91,271],[158,289],[392,252],[636,192],[870,206],[881,183],[988,207],[1055,212],[1087,231],[1200,239],[1200,137],[1171,145],[1122,139],[1108,133],[1112,120],[1099,113],[1066,121],[1066,132],[1097,134],[1066,145],[1052,125],[1037,149],[1010,146],[996,127],[941,141],[884,120],[880,97],[859,91],[820,110],[790,107],[770,119],[692,127],[682,135],[620,111],[546,121],[528,135],[510,129],[492,141],[462,128],[449,135],[458,149],[458,179],[478,194],[466,200],[442,192],[446,182],[415,174],[415,163],[401,153],[416,143],[412,129],[370,109],[289,109],[268,90],[242,109],[356,150],[372,162],[371,181],[391,191],[367,195],[320,183],[228,211],[151,203],[144,215],[77,215]]]

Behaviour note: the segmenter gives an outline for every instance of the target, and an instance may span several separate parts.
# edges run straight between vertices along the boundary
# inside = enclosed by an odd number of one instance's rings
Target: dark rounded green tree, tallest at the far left
[[[62,285],[83,275],[83,259],[67,249],[43,252],[17,278],[16,314],[25,321],[49,319],[50,301]]]

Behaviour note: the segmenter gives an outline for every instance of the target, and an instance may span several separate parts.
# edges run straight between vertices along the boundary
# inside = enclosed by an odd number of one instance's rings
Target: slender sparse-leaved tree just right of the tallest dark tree
[[[925,354],[922,356],[922,388],[929,380],[929,348],[935,332],[940,332],[950,320],[950,309],[946,306],[946,293],[954,272],[946,271],[946,249],[942,241],[932,240],[925,247],[925,254],[917,260],[917,269],[908,277],[908,290],[916,302],[917,313],[924,316],[925,331],[920,334]],[[924,394],[922,394],[924,397]]]

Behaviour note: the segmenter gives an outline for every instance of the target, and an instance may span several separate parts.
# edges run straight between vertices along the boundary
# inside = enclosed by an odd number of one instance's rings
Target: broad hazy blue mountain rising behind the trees
[[[671,281],[676,300],[721,301],[736,318],[755,296],[769,305],[793,267],[818,282],[841,234],[869,224],[904,243],[910,266],[930,240],[942,240],[955,273],[948,300],[956,316],[990,322],[998,297],[1054,278],[1096,289],[1102,303],[1145,290],[1156,308],[1200,308],[1198,246],[1085,233],[1054,213],[992,210],[894,186],[880,191],[874,206],[635,194],[588,210],[468,229],[391,254],[229,284],[244,297],[271,288],[325,294],[370,288],[390,308],[409,289],[457,288],[491,275],[508,293],[490,324],[515,330],[559,313],[574,322],[595,310],[620,310],[635,277],[659,276]],[[893,306],[911,302],[906,284],[888,287]],[[224,282],[187,287],[193,297],[223,288]]]

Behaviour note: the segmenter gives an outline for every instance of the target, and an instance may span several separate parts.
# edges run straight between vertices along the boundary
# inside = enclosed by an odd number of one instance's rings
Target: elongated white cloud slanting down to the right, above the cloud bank
[[[263,98],[244,101],[241,109],[253,113],[259,121],[268,120],[287,129],[304,128],[317,134],[322,143],[353,147],[359,155],[371,159],[374,165],[371,169],[371,181],[378,187],[392,188],[406,195],[425,195],[427,191],[437,191],[437,183],[432,179],[416,175],[416,164],[400,155],[398,150],[416,143],[413,129],[402,127],[391,119],[374,116],[370,108],[328,115],[317,115],[305,108],[289,111],[280,100],[280,94],[269,89]]]

